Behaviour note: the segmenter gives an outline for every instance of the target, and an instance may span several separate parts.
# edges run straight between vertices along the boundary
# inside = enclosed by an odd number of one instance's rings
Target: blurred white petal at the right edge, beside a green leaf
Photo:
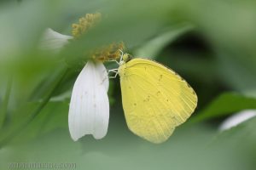
[[[224,131],[231,127],[236,127],[241,122],[245,122],[253,116],[256,116],[256,110],[240,111],[235,115],[228,117],[223,123],[221,123],[219,130]]]

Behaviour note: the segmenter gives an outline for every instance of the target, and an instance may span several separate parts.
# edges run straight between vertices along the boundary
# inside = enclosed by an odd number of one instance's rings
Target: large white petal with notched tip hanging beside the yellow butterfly
[[[85,134],[102,139],[108,131],[109,102],[104,85],[108,78],[102,78],[102,66],[102,63],[88,61],[74,84],[68,113],[69,131],[74,141]]]

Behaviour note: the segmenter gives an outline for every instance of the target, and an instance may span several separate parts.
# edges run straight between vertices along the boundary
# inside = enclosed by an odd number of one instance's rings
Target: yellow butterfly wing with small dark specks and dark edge
[[[127,125],[143,139],[166,141],[195,111],[193,88],[153,60],[131,59],[119,66],[119,77]]]

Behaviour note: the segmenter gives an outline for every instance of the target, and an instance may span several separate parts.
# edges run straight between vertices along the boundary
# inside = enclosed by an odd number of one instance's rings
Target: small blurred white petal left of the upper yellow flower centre
[[[52,29],[48,28],[42,37],[40,42],[40,48],[43,50],[51,50],[53,52],[59,52],[63,48],[68,40],[72,39],[72,36],[62,35]]]

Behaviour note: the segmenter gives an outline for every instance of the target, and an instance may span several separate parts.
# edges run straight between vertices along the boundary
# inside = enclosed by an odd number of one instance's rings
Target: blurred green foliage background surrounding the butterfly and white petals
[[[102,22],[60,54],[38,50],[50,27],[71,35],[87,13]],[[255,169],[256,118],[230,130],[227,116],[256,109],[253,0],[9,0],[0,3],[0,168],[9,162],[73,162],[76,169]],[[84,52],[123,41],[126,52],[177,71],[198,107],[164,144],[131,133],[119,78],[111,80],[108,134],[70,138],[68,103]],[[114,65],[106,64],[108,68]]]

